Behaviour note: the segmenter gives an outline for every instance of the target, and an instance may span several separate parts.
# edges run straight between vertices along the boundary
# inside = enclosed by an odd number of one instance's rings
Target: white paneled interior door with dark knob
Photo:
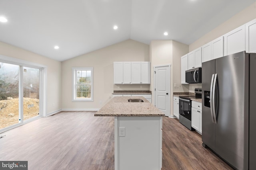
[[[170,65],[155,67],[155,106],[170,116]]]

